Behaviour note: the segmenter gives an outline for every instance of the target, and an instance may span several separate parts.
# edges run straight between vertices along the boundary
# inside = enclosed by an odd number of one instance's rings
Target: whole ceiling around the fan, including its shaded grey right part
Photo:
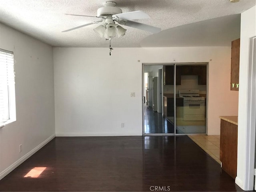
[[[208,46],[207,39],[221,32],[222,38],[213,46],[224,46],[230,32],[238,26],[240,14],[256,5],[256,0],[112,0],[123,12],[141,10],[151,19],[136,20],[162,28],[159,34],[124,26],[126,35],[114,38],[112,47],[169,47],[169,46]],[[98,37],[93,29],[99,24],[86,26],[70,32],[63,30],[95,21],[95,18],[70,16],[81,14],[96,16],[97,9],[104,0],[0,0],[0,22],[25,34],[33,36],[52,46],[60,47],[108,47],[109,42]],[[223,17],[223,19],[212,20]],[[210,20],[211,19],[211,20]],[[208,20],[205,22],[201,22]],[[214,30],[212,23],[219,27]],[[193,24],[194,23],[194,24]],[[224,26],[230,26],[224,27]],[[180,26],[180,27],[179,27]],[[220,30],[224,27],[224,30]],[[198,30],[203,28],[203,30]],[[191,30],[190,30],[191,29]],[[198,35],[200,32],[202,35]],[[204,34],[204,33],[205,34]],[[206,35],[207,33],[207,35]],[[187,39],[184,39],[184,37]],[[194,39],[205,38],[204,41]],[[180,41],[179,41],[180,38]],[[193,39],[194,38],[194,39]],[[186,41],[185,41],[186,40]],[[191,41],[192,40],[192,41]],[[202,44],[200,44],[202,42]]]

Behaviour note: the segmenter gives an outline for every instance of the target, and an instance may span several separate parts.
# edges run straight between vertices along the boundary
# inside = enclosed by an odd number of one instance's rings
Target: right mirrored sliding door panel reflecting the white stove
[[[206,64],[176,66],[176,134],[206,133]]]

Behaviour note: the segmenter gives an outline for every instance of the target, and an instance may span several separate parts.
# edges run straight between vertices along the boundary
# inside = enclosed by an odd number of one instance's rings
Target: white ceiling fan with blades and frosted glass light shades
[[[97,16],[66,14],[66,15],[72,15],[72,16],[94,17],[100,20],[92,23],[84,24],[81,26],[77,26],[75,28],[71,28],[68,30],[64,30],[62,32],[68,32],[71,30],[75,30],[78,28],[82,28],[82,27],[89,26],[92,24],[97,24],[97,23],[100,23],[100,25],[94,29],[94,32],[98,34],[98,36],[104,37],[107,40],[111,40],[115,36],[117,36],[118,38],[121,36],[124,36],[126,29],[122,28],[122,26],[120,25],[129,26],[132,28],[140,29],[140,30],[145,30],[153,34],[161,31],[161,29],[158,27],[132,21],[134,19],[150,18],[148,14],[142,11],[122,13],[122,10],[120,8],[117,8],[116,3],[112,1],[107,1],[103,5],[104,5],[103,7],[98,8]]]

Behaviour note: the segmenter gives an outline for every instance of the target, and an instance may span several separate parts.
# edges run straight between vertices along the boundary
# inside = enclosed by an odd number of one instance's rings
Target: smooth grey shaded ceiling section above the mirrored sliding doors
[[[228,15],[163,30],[144,38],[142,47],[231,46],[240,38],[241,15]]]

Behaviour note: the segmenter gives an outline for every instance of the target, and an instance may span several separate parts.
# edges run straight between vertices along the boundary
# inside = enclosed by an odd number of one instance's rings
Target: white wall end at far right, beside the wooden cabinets
[[[246,154],[250,151],[250,127],[247,127],[247,92],[248,92],[248,48],[249,38],[256,35],[256,6],[241,14],[240,69],[239,69],[239,111],[238,111],[238,153],[236,184],[243,190],[248,188],[248,164]],[[255,106],[254,106],[255,107]],[[255,118],[255,117],[253,117]],[[246,175],[247,174],[247,175]],[[253,178],[252,178],[253,181]]]

